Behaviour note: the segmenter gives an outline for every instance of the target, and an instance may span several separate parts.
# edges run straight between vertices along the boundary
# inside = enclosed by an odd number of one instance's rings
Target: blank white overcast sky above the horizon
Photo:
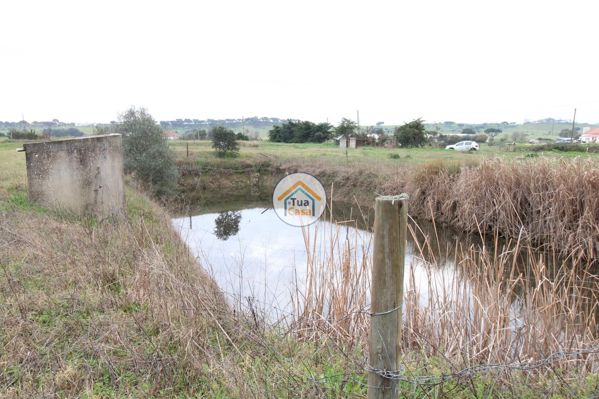
[[[599,123],[599,1],[0,4],[0,120]]]

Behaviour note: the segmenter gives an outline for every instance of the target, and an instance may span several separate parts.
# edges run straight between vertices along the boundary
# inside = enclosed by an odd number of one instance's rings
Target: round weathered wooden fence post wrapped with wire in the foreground
[[[398,374],[401,368],[401,307],[407,237],[406,194],[378,197],[374,202],[374,212],[368,399],[397,398],[398,381],[391,376]]]

